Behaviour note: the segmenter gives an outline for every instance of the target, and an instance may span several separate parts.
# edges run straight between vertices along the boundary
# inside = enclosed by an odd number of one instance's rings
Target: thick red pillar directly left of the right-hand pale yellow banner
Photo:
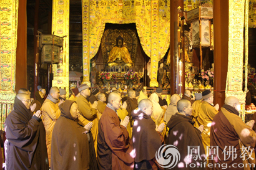
[[[229,1],[214,1],[214,105],[225,101],[229,47]]]

